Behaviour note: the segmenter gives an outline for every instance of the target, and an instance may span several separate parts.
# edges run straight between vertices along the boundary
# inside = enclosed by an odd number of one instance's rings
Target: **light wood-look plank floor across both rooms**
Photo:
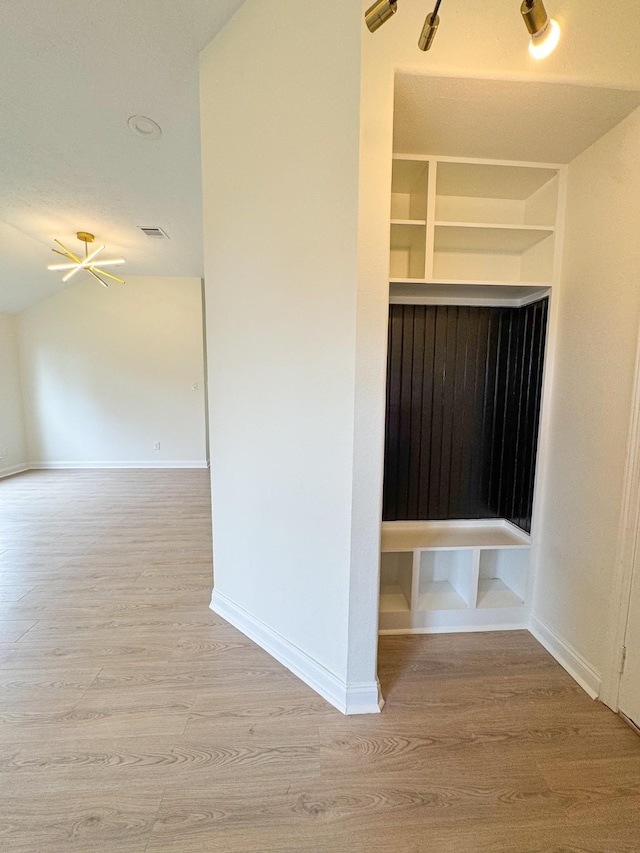
[[[344,718],[208,609],[204,471],[0,480],[4,853],[640,851],[640,738],[526,632]]]

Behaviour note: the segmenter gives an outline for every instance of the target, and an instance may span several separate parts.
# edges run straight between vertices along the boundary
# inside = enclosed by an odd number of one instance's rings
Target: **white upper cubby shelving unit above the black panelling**
[[[559,170],[394,155],[391,280],[550,284]]]

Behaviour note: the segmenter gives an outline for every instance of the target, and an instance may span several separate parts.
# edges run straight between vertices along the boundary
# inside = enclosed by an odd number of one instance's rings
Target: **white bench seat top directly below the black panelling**
[[[528,548],[530,537],[504,519],[480,521],[386,521],[382,552],[460,548]]]

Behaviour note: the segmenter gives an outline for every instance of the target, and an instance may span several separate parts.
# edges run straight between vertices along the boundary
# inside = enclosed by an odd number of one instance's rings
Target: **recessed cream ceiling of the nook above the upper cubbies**
[[[640,92],[398,74],[394,151],[570,163],[640,105]]]

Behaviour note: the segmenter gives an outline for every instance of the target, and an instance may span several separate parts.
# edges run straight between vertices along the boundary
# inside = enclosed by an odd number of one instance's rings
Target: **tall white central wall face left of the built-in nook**
[[[216,591],[342,682],[360,24],[253,0],[201,65]]]

